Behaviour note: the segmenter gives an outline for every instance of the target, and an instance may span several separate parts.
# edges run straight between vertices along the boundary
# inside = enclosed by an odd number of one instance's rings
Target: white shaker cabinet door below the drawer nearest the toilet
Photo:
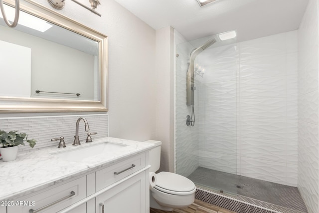
[[[96,197],[97,213],[146,213],[146,172]]]

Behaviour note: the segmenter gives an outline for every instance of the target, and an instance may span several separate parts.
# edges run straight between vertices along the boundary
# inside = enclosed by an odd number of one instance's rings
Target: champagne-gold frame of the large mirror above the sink
[[[32,0],[20,2],[20,10],[99,42],[99,101],[17,98],[0,96],[0,113],[21,112],[107,112],[108,111],[108,37]],[[13,0],[5,0],[14,5]]]

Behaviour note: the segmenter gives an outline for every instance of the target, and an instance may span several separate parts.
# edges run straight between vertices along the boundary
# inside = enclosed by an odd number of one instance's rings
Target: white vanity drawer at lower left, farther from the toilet
[[[46,208],[39,213],[57,213],[84,198],[86,198],[86,176],[17,199],[14,201],[14,206],[7,207],[7,213],[30,213],[31,209],[36,212],[44,207]]]

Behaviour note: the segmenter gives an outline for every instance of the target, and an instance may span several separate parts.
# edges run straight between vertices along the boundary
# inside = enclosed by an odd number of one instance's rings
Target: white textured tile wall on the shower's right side
[[[318,0],[298,30],[298,189],[309,213],[319,212]]]

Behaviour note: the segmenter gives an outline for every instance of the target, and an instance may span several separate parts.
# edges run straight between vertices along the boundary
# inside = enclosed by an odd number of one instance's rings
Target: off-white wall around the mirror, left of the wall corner
[[[46,0],[37,2],[53,9]],[[89,5],[86,0],[83,3]],[[108,36],[109,136],[155,139],[155,30],[114,0],[101,2],[97,11],[102,17],[72,1],[56,11]]]

